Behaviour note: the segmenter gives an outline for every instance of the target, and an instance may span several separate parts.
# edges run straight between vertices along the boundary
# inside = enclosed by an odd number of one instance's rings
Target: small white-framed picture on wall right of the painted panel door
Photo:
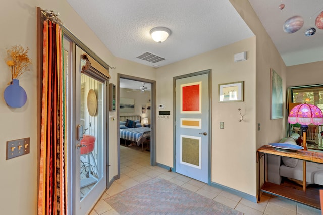
[[[219,102],[243,101],[244,81],[219,84]]]

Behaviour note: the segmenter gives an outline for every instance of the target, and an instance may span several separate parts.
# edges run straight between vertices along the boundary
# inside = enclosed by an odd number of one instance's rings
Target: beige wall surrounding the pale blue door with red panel
[[[235,63],[235,53],[248,52],[247,61]],[[171,111],[157,118],[157,162],[173,167],[173,77],[211,69],[212,175],[211,181],[255,195],[255,38],[249,38],[158,69],[157,104]],[[218,102],[218,84],[244,81],[244,102]],[[245,121],[239,122],[240,114]],[[220,121],[225,129],[219,128]],[[247,168],[246,168],[247,167]],[[239,183],[237,183],[239,176]]]

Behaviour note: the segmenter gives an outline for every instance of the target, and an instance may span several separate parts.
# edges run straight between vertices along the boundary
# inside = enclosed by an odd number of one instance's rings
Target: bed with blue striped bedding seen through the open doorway
[[[147,147],[150,144],[150,128],[142,126],[140,122],[139,115],[120,116],[120,140],[124,140],[125,146],[127,142],[130,142],[130,145],[141,145],[143,151],[144,144]]]

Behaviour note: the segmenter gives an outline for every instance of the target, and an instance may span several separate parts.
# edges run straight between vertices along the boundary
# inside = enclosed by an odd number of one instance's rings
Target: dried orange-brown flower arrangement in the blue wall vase
[[[24,49],[21,45],[14,45],[7,50],[7,65],[11,67],[12,79],[18,79],[25,71],[29,70],[28,66],[31,64],[31,59],[28,57],[27,47]]]

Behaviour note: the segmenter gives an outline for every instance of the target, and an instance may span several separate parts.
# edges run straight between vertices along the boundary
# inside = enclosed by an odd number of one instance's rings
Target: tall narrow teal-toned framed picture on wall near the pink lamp
[[[283,80],[271,69],[271,120],[283,118]]]

